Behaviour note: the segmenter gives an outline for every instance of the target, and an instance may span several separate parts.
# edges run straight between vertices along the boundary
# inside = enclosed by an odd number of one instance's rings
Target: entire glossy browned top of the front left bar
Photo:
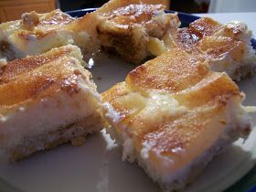
[[[16,59],[7,64],[0,77],[1,112],[20,104],[26,106],[30,102],[52,98],[59,91],[77,93],[79,77],[89,79],[90,73],[80,66],[78,59],[67,54],[71,49],[62,47],[42,56]]]

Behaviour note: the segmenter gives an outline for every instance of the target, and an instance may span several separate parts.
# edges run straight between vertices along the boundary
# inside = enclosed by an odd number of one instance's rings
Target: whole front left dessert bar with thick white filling
[[[101,130],[101,96],[81,66],[80,48],[65,46],[16,59],[0,75],[0,156],[18,160]]]

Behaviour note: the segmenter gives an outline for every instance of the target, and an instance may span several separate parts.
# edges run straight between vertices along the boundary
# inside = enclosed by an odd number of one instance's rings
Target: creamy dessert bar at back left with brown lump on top
[[[85,19],[71,17],[59,9],[46,14],[26,13],[21,20],[0,25],[0,58],[8,60],[39,55],[68,44],[92,52],[96,45]]]

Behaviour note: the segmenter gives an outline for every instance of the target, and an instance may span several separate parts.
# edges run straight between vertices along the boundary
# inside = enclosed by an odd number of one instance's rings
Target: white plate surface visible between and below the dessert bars
[[[133,65],[104,55],[91,69],[99,91],[124,80]],[[256,105],[256,77],[242,80],[245,104]],[[255,118],[254,118],[255,119]],[[187,191],[219,192],[244,176],[255,164],[256,132],[215,158]],[[0,188],[26,192],[158,192],[159,187],[138,165],[123,162],[121,150],[108,135],[92,134],[85,144],[64,144],[15,164],[0,163]]]

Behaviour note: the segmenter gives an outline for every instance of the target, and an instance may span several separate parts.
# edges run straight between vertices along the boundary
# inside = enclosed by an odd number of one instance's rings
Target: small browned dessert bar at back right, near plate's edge
[[[221,25],[203,17],[189,27],[165,36],[168,48],[183,48],[207,60],[210,69],[225,71],[232,80],[254,74],[256,70],[255,50],[251,47],[251,30],[241,22],[233,21]]]

